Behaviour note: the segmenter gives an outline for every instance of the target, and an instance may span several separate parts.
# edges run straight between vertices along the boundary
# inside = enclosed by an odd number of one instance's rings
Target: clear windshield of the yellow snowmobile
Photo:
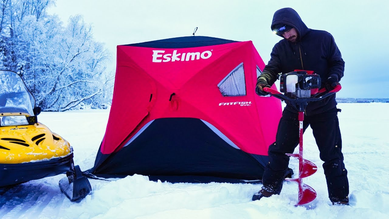
[[[0,71],[0,113],[34,115],[35,99],[22,78],[12,71]]]

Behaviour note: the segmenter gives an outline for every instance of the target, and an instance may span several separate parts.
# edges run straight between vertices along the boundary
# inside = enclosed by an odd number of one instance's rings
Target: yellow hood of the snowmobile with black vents
[[[71,152],[65,139],[39,122],[0,127],[0,164],[49,160]]]

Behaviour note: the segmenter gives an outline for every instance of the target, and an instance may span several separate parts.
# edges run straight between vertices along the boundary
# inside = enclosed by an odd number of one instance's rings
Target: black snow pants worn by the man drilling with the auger
[[[324,161],[329,199],[332,202],[349,201],[349,181],[343,163],[342,138],[340,136],[338,109],[324,113],[305,115],[304,131],[310,125]],[[289,156],[299,143],[298,114],[284,110],[280,119],[276,141],[269,147],[269,163],[263,173],[263,187],[268,192],[280,194],[282,181],[289,164]]]

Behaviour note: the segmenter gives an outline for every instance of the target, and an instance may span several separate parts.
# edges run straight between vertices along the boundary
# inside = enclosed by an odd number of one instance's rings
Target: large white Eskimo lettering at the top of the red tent
[[[212,49],[213,50],[213,49]],[[193,61],[193,60],[199,60],[207,59],[211,57],[212,50],[209,51],[203,51],[200,52],[194,52],[194,53],[177,53],[177,50],[173,50],[173,54],[166,53],[165,50],[153,50],[152,52],[152,62],[175,62],[175,61]]]

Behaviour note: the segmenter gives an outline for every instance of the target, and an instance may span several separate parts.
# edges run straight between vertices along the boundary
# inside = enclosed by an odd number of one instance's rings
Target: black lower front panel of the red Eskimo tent
[[[200,119],[159,118],[130,144],[110,154],[93,174],[140,174],[173,182],[197,182],[196,177],[202,182],[260,180],[266,156],[258,156],[232,147]]]

